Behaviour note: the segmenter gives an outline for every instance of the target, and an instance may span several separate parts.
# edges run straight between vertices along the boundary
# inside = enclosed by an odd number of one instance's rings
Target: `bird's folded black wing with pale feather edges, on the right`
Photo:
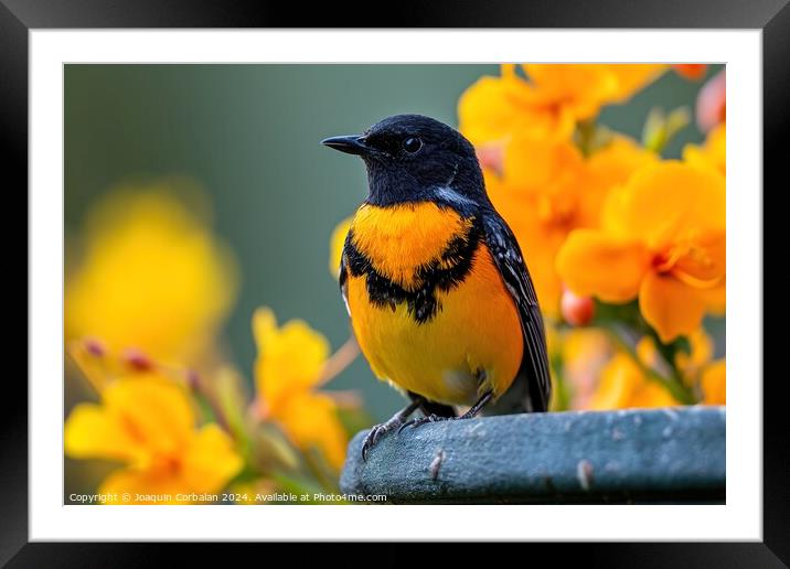
[[[548,356],[543,316],[537,304],[535,287],[524,265],[524,258],[513,232],[493,210],[482,215],[485,244],[494,264],[519,308],[521,331],[524,337],[524,355],[517,380],[526,382],[526,395],[532,411],[545,411],[552,395],[548,375]]]

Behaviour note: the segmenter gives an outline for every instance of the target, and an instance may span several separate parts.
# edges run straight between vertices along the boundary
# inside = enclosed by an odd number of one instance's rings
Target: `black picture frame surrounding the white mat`
[[[788,174],[782,168],[787,154],[781,142],[788,137],[790,124],[788,0],[664,0],[650,3],[634,0],[402,1],[387,3],[386,11],[373,2],[353,1],[311,3],[308,8],[292,2],[243,4],[227,0],[0,0],[0,140],[7,212],[20,211],[9,198],[22,196],[25,193],[22,189],[28,186],[28,34],[31,30],[313,26],[760,29],[764,42],[764,185],[777,194],[787,189]],[[752,190],[760,191],[758,187]],[[771,193],[764,192],[764,196]],[[28,211],[26,198],[20,207]],[[764,212],[765,215],[779,215],[780,210],[765,208]],[[7,219],[17,215],[7,214]],[[764,226],[764,259],[772,259],[764,267],[764,303],[770,307],[768,313],[775,323],[787,323],[787,318],[782,316],[788,315],[790,302],[780,297],[781,293],[787,296],[790,284],[790,271],[782,268],[787,253],[773,256],[770,253],[779,251],[778,247],[787,243],[777,226]],[[7,243],[7,257],[21,251],[17,239]],[[26,276],[25,284],[30,286]],[[7,298],[10,300],[10,296]],[[13,301],[8,304],[21,305]],[[767,364],[776,362],[782,348],[787,350],[789,335],[787,324],[783,333],[771,333],[765,324],[764,361]],[[759,380],[755,378],[755,382]],[[790,414],[782,409],[786,405],[780,393],[783,382],[787,379],[778,372],[764,382],[762,543],[548,546],[553,559],[562,561],[583,556],[586,563],[594,566],[629,567],[786,567],[790,563],[790,447],[786,442]],[[158,554],[153,549],[158,546],[150,544],[28,543],[28,389],[19,374],[7,374],[2,394],[6,405],[0,412],[0,563],[8,562],[10,567],[126,567],[156,560]],[[179,547],[180,555],[196,552],[203,560],[209,560],[198,545]],[[394,554],[396,547],[394,544],[387,546]],[[406,561],[403,550],[399,555],[389,555],[385,548],[377,548],[376,557]],[[367,560],[373,561],[370,557]]]

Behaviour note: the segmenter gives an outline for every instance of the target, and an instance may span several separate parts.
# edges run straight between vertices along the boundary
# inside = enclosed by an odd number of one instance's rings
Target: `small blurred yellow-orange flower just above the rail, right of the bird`
[[[669,407],[677,405],[660,384],[648,379],[627,354],[617,354],[601,372],[590,409]]]

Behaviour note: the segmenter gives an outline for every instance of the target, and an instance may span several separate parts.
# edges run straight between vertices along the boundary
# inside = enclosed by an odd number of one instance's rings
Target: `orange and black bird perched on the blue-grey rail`
[[[420,115],[322,143],[367,169],[340,289],[374,374],[410,398],[369,432],[363,458],[409,425],[468,419],[487,406],[487,415],[545,411],[551,382],[535,288],[472,144]],[[470,407],[456,416],[453,406]],[[417,409],[424,416],[407,421]]]

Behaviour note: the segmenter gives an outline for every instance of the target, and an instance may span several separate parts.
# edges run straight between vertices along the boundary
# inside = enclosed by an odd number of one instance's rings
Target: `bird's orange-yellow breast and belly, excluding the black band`
[[[356,247],[372,265],[407,287],[417,282],[415,269],[436,259],[471,223],[434,204],[403,210],[365,205],[352,228]],[[460,283],[435,294],[436,314],[417,322],[405,302],[394,310],[371,303],[366,277],[349,276],[352,326],[373,372],[450,405],[471,405],[488,388],[497,396],[504,393],[521,365],[523,341],[519,312],[488,247],[478,246]]]

